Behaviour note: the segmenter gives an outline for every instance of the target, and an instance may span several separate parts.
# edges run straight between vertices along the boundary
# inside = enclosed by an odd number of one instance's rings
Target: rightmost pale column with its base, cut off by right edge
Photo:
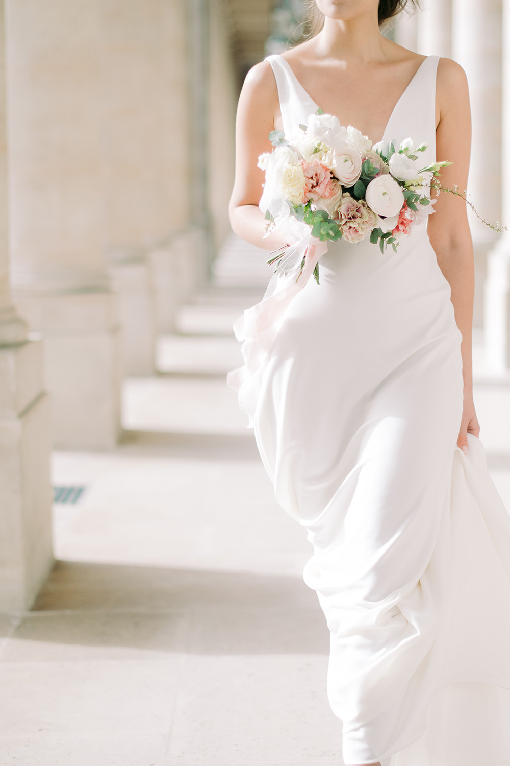
[[[510,34],[510,0],[503,2],[502,37]],[[502,51],[502,176],[510,174],[510,50]],[[502,185],[502,223],[510,228],[510,187]],[[510,370],[510,231],[489,253],[485,286],[486,361],[495,374]]]

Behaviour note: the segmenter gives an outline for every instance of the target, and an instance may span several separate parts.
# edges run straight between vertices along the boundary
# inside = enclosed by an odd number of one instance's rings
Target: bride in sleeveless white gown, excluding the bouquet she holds
[[[267,250],[258,155],[320,107],[375,143],[411,137],[441,182],[466,188],[466,77],[382,36],[405,0],[317,0],[313,37],[246,77],[232,228]],[[328,243],[320,285],[240,319],[231,373],[281,506],[307,529],[304,579],[331,634],[327,692],[349,766],[510,764],[510,522],[473,404],[473,245],[441,193],[396,253]],[[274,305],[274,304],[271,304]],[[299,629],[299,626],[296,626]],[[508,720],[508,719],[507,719]]]

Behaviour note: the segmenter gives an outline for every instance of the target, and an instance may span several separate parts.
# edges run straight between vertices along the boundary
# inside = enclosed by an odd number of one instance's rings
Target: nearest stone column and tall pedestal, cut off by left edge
[[[0,611],[31,607],[53,563],[43,342],[28,338],[8,279],[4,40],[0,2]]]

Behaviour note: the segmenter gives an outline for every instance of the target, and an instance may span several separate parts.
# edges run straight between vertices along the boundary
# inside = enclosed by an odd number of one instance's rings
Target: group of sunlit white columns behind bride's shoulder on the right
[[[503,219],[503,223],[508,224],[510,218],[503,214],[501,205],[502,145],[507,145],[505,136],[502,136],[503,4],[502,0],[485,3],[425,0],[422,11],[401,17],[395,27],[395,39],[421,54],[452,57],[466,71],[473,115],[469,198],[482,218],[493,223]],[[476,267],[474,323],[485,326],[488,361],[494,372],[502,372],[508,367],[510,349],[503,354],[500,348],[499,359],[490,351],[495,333],[501,335],[502,315],[499,311],[495,316],[493,294],[500,292],[496,284],[500,282],[499,272],[494,277],[494,269],[489,268],[486,277],[487,262],[492,263],[492,252],[494,249],[499,252],[500,243],[495,233],[474,214],[469,214],[469,222]]]

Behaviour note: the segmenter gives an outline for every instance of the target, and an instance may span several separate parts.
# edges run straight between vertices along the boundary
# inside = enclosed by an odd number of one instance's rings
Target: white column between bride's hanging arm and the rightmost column
[[[501,218],[502,0],[453,0],[453,58],[466,71],[473,119],[468,192],[482,218]],[[480,151],[483,147],[483,151]],[[476,267],[475,325],[482,324],[487,253],[495,234],[469,214]]]

